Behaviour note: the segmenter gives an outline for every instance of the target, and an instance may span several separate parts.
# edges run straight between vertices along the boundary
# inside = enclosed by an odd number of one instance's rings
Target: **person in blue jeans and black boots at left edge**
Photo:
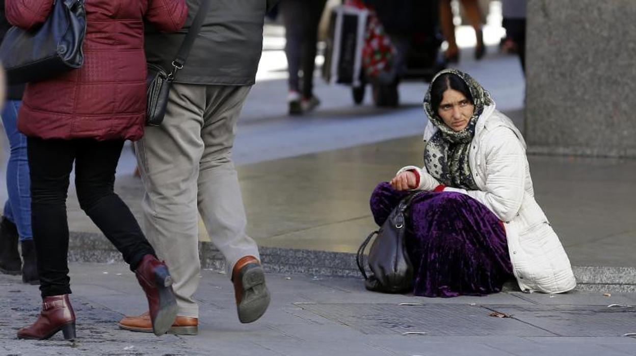
[[[0,39],[4,38],[11,24],[4,15],[4,1],[0,1]],[[2,82],[4,90],[4,80]],[[31,180],[27,160],[27,138],[17,129],[18,110],[22,104],[24,84],[11,85],[7,101],[1,112],[4,132],[9,139],[10,155],[6,167],[6,190],[9,196],[4,203],[0,221],[0,271],[7,274],[22,273],[24,283],[39,283],[36,265],[36,248],[31,231]],[[18,253],[18,240],[22,260]]]

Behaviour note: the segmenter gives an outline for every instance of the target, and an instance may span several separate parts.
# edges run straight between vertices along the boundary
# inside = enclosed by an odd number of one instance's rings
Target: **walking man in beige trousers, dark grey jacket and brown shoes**
[[[205,0],[204,0],[205,1]],[[162,125],[149,127],[135,143],[146,190],[144,227],[158,255],[170,266],[177,319],[170,332],[198,333],[198,216],[225,257],[239,320],[254,322],[265,313],[270,294],[258,246],[245,233],[245,209],[232,162],[237,120],[254,84],[263,43],[265,13],[275,0],[215,0],[183,69],[170,89]],[[198,11],[178,34],[146,33],[150,62],[171,68]],[[147,313],[125,317],[122,329],[148,332]]]

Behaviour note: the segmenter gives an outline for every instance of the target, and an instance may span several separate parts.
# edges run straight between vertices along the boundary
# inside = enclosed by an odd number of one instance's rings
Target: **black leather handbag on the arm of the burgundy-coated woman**
[[[8,83],[37,82],[80,68],[85,34],[83,0],[54,0],[44,24],[30,31],[11,27],[0,45]]]

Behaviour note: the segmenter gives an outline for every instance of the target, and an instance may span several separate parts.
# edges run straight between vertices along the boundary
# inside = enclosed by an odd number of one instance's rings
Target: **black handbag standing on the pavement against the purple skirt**
[[[368,290],[384,293],[403,293],[413,289],[413,265],[406,251],[406,211],[411,201],[420,192],[404,197],[391,211],[380,230],[373,231],[364,240],[356,255],[358,269],[364,277],[364,287]],[[364,270],[364,250],[373,236],[369,250],[368,266],[371,274]]]

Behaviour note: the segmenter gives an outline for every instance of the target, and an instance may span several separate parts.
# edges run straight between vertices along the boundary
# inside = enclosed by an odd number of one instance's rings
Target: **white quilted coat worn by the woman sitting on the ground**
[[[437,128],[424,130],[427,142]],[[576,287],[570,260],[548,218],[534,200],[525,141],[513,122],[484,108],[471,142],[469,164],[479,190],[446,187],[473,197],[492,211],[506,227],[508,251],[519,287],[525,292],[562,293]],[[424,167],[424,169],[426,169]],[[421,168],[407,166],[400,172]],[[422,182],[422,180],[420,180]]]

